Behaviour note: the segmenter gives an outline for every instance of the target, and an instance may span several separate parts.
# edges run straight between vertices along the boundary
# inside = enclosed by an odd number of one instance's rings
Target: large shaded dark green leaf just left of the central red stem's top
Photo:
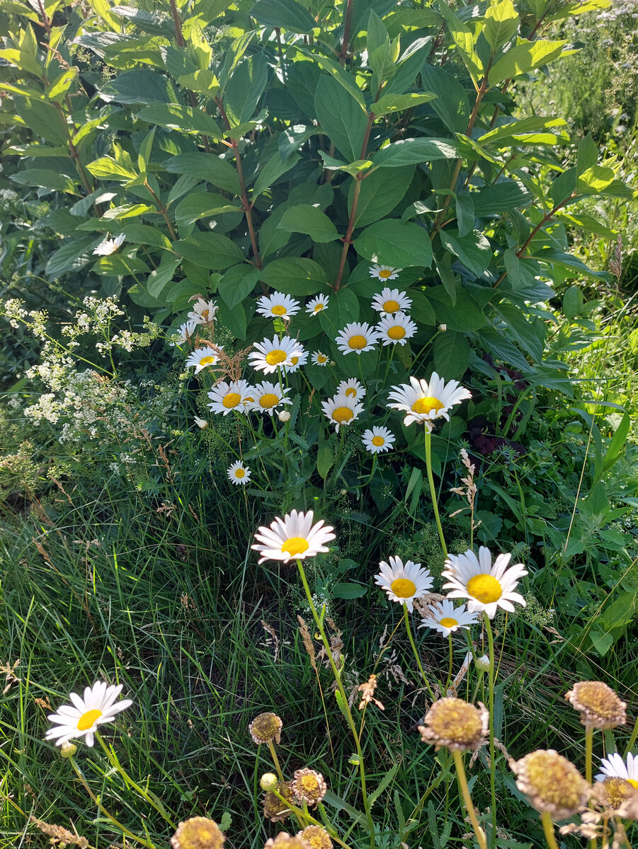
[[[368,121],[352,94],[332,77],[323,77],[314,96],[317,120],[348,161],[359,158]]]

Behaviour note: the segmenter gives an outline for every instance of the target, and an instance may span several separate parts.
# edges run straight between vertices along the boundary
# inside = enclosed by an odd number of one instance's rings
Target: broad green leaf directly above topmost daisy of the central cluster
[[[432,245],[427,230],[418,224],[402,224],[397,218],[387,218],[366,228],[354,240],[359,256],[372,262],[394,267],[432,265]]]

